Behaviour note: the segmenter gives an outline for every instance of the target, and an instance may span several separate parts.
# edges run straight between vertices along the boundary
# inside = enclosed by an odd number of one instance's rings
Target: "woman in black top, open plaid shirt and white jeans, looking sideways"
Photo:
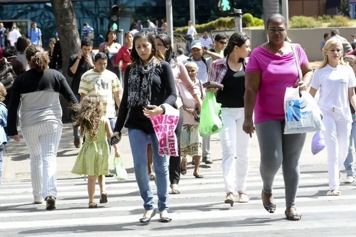
[[[210,80],[224,85],[218,92],[216,101],[221,103],[221,114],[224,127],[219,132],[223,149],[223,176],[225,182],[225,203],[231,206],[235,202],[235,191],[239,194],[239,202],[249,201],[246,195],[246,178],[249,165],[250,136],[242,130],[245,119],[245,58],[250,53],[250,40],[245,33],[234,33],[224,50],[225,59],[213,62]],[[216,92],[216,90],[210,90]],[[236,157],[236,160],[235,160]],[[232,168],[235,163],[235,168]],[[236,171],[236,188],[234,180]]]

